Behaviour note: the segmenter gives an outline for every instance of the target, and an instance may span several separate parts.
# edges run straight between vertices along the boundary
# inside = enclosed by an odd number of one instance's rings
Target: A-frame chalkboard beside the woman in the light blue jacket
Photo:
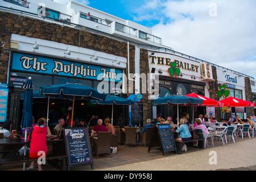
[[[160,149],[164,156],[166,152],[177,152],[170,125],[161,124],[155,127],[154,133],[150,139],[148,152],[150,152],[151,149]]]

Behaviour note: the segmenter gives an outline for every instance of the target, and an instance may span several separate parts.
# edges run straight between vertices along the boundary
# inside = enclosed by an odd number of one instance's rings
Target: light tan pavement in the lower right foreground
[[[217,152],[217,165],[210,165],[210,151]],[[255,170],[256,165],[256,138],[243,140],[238,143],[231,143],[225,147],[219,146],[206,150],[198,150],[182,155],[169,156],[162,159],[149,160],[146,162],[127,164],[103,170],[225,170],[238,168],[237,170]]]

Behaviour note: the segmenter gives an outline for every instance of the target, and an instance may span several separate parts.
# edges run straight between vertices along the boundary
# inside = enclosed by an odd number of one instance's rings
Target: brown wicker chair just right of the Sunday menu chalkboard
[[[97,156],[97,159],[99,154],[110,155],[111,135],[111,131],[97,132],[97,138],[93,138],[93,152]]]

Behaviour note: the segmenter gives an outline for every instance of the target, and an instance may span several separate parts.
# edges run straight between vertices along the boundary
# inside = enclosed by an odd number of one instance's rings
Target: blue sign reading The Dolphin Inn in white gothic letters
[[[122,69],[101,67],[51,57],[12,52],[11,69],[15,71],[35,72],[49,75],[89,78],[119,82]]]

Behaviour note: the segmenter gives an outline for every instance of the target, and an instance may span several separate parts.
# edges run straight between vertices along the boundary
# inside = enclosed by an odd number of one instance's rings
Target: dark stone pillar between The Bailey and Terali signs
[[[210,84],[210,98],[218,101],[219,98],[217,96],[217,91],[218,91],[218,77],[217,77],[217,69],[214,66],[211,66],[211,69],[213,71],[213,79],[215,81],[212,81]],[[218,121],[221,120],[221,107],[215,107],[215,117]]]

